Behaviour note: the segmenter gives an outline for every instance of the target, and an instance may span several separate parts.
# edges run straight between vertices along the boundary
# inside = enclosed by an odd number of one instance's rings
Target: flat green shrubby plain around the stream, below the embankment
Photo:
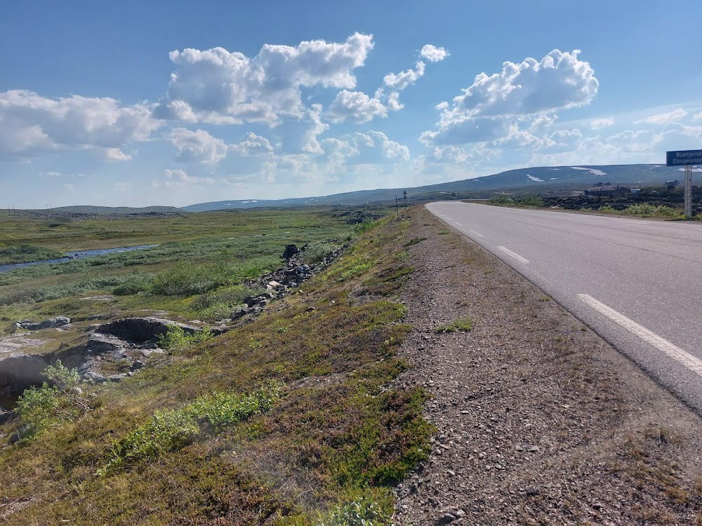
[[[99,304],[80,297],[110,293],[118,285],[150,281],[178,262],[193,270],[217,274],[220,281],[234,285],[241,278],[254,277],[276,267],[288,243],[301,246],[343,238],[351,229],[333,210],[307,208],[88,220],[55,228],[37,220],[0,217],[0,239],[8,241],[10,231],[18,244],[44,243],[47,248],[84,250],[162,244],[150,250],[37,265],[0,274],[0,332],[9,330],[18,319],[39,320],[57,315],[86,318],[97,309],[113,316],[150,308],[198,317],[201,313],[190,307],[187,297],[126,295]]]

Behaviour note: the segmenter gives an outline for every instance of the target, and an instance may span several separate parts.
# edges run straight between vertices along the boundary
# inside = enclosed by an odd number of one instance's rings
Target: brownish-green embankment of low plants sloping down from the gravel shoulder
[[[430,433],[422,391],[391,384],[406,367],[395,349],[409,328],[392,299],[411,272],[404,227],[366,232],[253,323],[98,389],[79,421],[6,447],[0,523],[305,525],[347,501],[389,513],[388,483],[425,457]],[[154,411],[270,379],[285,384],[270,412],[95,475]]]

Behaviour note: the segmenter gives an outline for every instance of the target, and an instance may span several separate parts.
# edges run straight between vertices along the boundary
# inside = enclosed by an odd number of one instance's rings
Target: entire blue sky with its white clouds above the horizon
[[[318,196],[702,148],[698,1],[2,11],[0,206]]]

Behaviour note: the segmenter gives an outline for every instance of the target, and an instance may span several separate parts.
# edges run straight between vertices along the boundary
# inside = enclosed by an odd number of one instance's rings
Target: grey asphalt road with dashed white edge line
[[[427,208],[702,414],[702,223],[456,201]]]

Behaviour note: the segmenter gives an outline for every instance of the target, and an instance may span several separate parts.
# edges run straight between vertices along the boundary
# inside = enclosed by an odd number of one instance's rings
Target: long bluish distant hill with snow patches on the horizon
[[[351,191],[331,196],[290,198],[290,199],[245,199],[214,201],[183,207],[188,212],[206,210],[231,210],[237,208],[255,208],[260,206],[304,206],[304,205],[360,205],[364,203],[389,203],[395,196],[402,198],[407,192],[408,201],[416,203],[442,198],[449,194],[453,198],[481,198],[489,196],[491,190],[517,189],[527,191],[548,191],[555,187],[583,189],[597,182],[614,184],[656,185],[668,180],[682,179],[682,172],[677,168],[668,168],[659,164],[622,164],[607,166],[542,166],[536,168],[519,168],[507,172],[462,181],[429,184],[415,188],[392,188],[377,190]]]

